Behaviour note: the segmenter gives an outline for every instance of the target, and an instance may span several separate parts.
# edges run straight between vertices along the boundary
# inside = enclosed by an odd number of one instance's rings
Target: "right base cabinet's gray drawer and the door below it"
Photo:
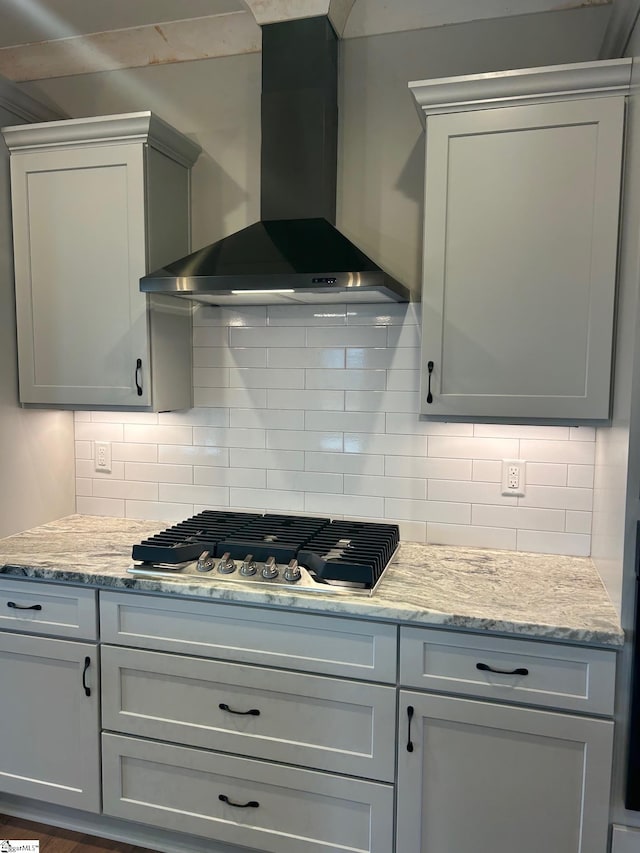
[[[400,662],[397,853],[605,853],[613,721],[575,711],[615,652],[401,628]]]

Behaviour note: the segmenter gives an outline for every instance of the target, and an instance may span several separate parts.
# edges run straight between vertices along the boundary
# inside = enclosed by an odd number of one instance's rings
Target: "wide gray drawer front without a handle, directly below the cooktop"
[[[100,593],[100,619],[113,645],[396,681],[394,625],[112,592]]]

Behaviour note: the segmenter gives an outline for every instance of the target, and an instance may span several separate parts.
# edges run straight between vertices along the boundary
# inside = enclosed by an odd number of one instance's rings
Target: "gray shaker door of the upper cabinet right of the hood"
[[[423,414],[609,417],[623,125],[620,97],[427,119]]]

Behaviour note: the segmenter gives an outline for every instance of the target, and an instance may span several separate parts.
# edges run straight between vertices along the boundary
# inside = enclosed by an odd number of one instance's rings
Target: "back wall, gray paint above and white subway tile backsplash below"
[[[354,39],[341,45],[338,224],[419,288],[424,136],[412,79],[593,59],[589,10]],[[32,87],[30,87],[32,88]],[[193,244],[258,217],[260,57],[42,81],[83,116],[151,108],[193,136]],[[405,538],[588,554],[595,432],[417,419],[419,305],[347,312],[198,312],[196,408],[76,416],[82,512],[177,520],[202,507],[400,522]],[[94,440],[112,441],[98,476]],[[528,461],[523,499],[500,460]]]

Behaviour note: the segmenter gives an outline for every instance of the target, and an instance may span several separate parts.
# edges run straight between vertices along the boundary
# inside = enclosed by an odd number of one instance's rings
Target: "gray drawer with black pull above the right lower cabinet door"
[[[616,653],[603,649],[400,630],[406,687],[610,716],[615,668]]]

